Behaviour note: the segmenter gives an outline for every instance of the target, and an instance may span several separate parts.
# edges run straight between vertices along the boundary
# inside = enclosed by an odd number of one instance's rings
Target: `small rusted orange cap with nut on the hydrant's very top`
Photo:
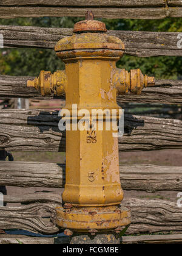
[[[106,25],[101,21],[93,20],[94,15],[92,11],[87,11],[86,20],[79,21],[75,24],[73,33],[81,32],[106,32]]]

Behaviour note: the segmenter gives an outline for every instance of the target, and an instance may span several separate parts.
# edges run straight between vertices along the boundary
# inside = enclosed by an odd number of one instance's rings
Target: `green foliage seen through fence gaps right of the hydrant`
[[[150,32],[182,32],[182,18],[164,20],[105,20],[107,29]],[[142,38],[141,38],[142,40]],[[118,68],[140,68],[144,74],[161,79],[177,79],[182,74],[182,58],[159,56],[139,58],[129,55],[117,63]]]

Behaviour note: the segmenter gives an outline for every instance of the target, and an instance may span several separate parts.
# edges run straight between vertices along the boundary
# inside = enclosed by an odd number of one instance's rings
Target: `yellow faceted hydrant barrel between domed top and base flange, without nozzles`
[[[113,137],[111,129],[106,130],[106,112],[119,110],[116,89],[110,85],[113,68],[115,63],[107,59],[78,59],[66,65],[69,92],[65,108],[72,113],[72,104],[76,104],[78,115],[86,108],[90,121],[87,130],[66,132],[66,186],[62,199],[72,205],[117,205],[123,199],[118,138]],[[102,116],[103,130],[99,130],[98,120],[92,130],[90,117],[94,109],[96,114],[106,113]],[[81,117],[82,113],[78,121]],[[98,115],[95,117],[98,119]]]

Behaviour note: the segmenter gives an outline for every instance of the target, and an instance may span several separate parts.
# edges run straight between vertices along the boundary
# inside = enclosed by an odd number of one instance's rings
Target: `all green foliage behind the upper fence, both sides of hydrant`
[[[16,18],[0,20],[2,25],[41,26],[41,27],[73,27],[81,18]],[[110,30],[141,31],[182,31],[182,18],[166,18],[165,20],[106,20]],[[142,38],[141,38],[142,40]],[[2,49],[0,51],[0,73],[14,76],[38,76],[41,69],[55,71],[63,69],[64,63],[50,49]],[[119,68],[127,70],[141,68],[144,74],[162,79],[177,79],[182,74],[181,57],[148,57],[139,58],[125,55],[118,63]]]

